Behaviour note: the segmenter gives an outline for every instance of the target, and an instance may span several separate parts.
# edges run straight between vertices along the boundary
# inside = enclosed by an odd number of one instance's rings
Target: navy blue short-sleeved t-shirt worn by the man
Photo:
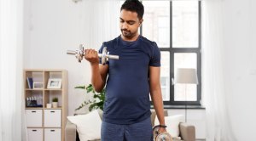
[[[139,36],[126,42],[120,36],[103,42],[109,54],[106,100],[103,121],[113,124],[133,124],[150,115],[149,66],[160,66],[160,50],[155,42]],[[102,48],[99,53],[102,53]]]

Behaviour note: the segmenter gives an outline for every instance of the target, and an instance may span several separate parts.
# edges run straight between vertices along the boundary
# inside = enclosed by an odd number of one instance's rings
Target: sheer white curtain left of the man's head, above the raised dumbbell
[[[89,35],[89,46],[95,49],[102,42],[119,36],[119,0],[84,1],[84,33]]]

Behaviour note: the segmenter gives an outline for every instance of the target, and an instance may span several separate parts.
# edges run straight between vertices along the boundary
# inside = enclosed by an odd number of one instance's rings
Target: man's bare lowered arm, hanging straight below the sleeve
[[[160,125],[166,125],[163,108],[163,99],[160,87],[160,67],[149,66],[149,86],[150,96],[154,104],[156,116],[159,119]],[[160,127],[160,133],[165,131],[165,128]]]

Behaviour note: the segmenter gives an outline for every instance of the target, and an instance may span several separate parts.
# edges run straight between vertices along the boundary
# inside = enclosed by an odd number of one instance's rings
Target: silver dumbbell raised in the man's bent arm
[[[75,55],[78,61],[81,63],[81,60],[84,58],[84,45],[80,44],[78,50],[67,50],[67,54]],[[107,47],[104,47],[102,54],[98,54],[99,58],[102,58],[102,65],[105,65],[108,62],[108,59],[119,59],[118,55],[110,55],[107,51]]]

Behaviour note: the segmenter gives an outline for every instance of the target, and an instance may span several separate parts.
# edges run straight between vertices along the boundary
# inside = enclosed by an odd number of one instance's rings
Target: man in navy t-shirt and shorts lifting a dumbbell
[[[96,92],[101,92],[106,84],[102,141],[153,140],[149,93],[162,125],[159,132],[166,131],[160,89],[160,50],[155,42],[138,34],[143,13],[143,4],[138,0],[123,3],[119,18],[121,35],[102,44],[110,54],[119,55],[118,60],[110,59],[107,65],[102,65],[95,50],[85,50],[84,58],[90,62],[91,83]]]

